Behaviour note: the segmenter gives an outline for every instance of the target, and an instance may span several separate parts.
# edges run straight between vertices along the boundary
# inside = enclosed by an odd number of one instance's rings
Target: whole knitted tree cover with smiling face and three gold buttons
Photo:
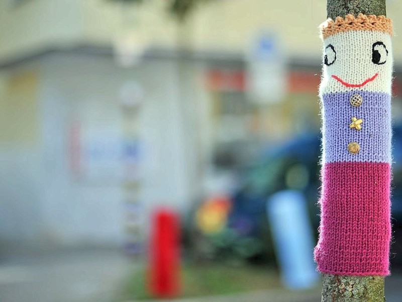
[[[324,68],[322,273],[388,275],[392,23],[347,15],[321,25]]]

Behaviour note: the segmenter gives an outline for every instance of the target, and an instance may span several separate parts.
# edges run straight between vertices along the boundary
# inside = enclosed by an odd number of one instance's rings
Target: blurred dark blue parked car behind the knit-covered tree
[[[392,179],[392,225],[394,243],[391,262],[402,267],[402,125],[393,127],[393,179]],[[264,242],[265,255],[273,249],[267,232],[266,202],[270,195],[281,190],[293,189],[303,192],[309,214],[318,238],[320,222],[320,156],[321,135],[300,136],[263,157],[253,167],[242,173],[238,189],[232,194],[232,210],[228,226],[241,237],[259,238]],[[398,239],[400,238],[400,239]],[[257,257],[261,255],[255,255]]]

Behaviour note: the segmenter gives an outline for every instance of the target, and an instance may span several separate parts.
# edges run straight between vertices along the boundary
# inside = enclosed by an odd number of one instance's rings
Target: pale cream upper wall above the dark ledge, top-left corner
[[[74,47],[82,32],[80,0],[33,0],[10,8],[0,1],[0,60]]]

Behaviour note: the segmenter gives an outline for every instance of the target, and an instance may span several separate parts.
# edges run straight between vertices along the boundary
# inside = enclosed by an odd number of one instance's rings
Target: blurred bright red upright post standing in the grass
[[[180,293],[180,221],[169,209],[155,211],[149,251],[148,288],[153,296]]]

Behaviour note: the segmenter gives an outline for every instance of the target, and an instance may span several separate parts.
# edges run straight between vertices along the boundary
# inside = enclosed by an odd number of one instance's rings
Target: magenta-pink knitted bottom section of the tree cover
[[[318,270],[338,275],[389,275],[390,165],[327,163],[322,171]]]

